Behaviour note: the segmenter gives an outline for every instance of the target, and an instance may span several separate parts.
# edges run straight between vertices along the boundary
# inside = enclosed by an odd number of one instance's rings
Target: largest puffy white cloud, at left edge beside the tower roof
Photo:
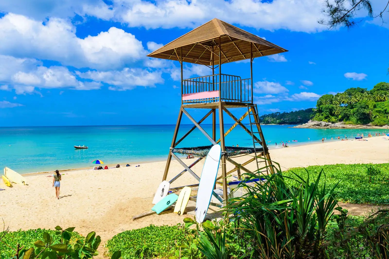
[[[0,54],[55,60],[77,68],[123,68],[145,59],[147,51],[131,33],[111,27],[107,32],[80,39],[66,19],[42,23],[18,14],[0,18]]]

